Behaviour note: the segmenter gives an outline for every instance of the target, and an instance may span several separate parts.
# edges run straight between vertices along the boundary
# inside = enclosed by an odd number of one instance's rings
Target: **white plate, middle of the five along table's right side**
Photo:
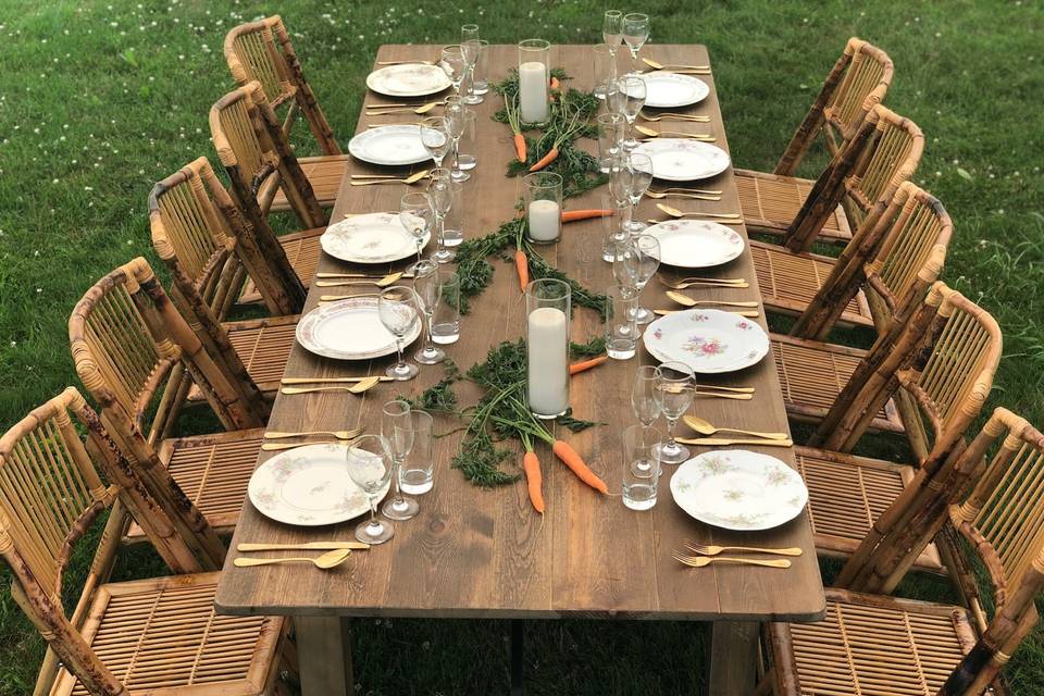
[[[716,222],[667,220],[642,234],[660,240],[660,263],[682,269],[707,269],[743,253],[743,236]]]

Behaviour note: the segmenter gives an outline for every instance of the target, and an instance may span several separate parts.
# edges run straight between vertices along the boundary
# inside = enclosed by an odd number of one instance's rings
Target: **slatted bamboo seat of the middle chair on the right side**
[[[787,415],[796,421],[818,422],[826,415],[865,350],[783,334],[770,334],[772,359],[783,388]],[[893,399],[882,407],[870,430],[905,432]]]

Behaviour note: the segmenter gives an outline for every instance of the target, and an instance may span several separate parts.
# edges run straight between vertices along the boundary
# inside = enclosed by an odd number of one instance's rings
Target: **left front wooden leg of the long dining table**
[[[348,619],[295,617],[302,696],[353,696]]]

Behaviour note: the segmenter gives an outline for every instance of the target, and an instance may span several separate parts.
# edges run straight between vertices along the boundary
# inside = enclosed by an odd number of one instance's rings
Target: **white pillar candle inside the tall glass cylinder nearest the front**
[[[530,312],[530,410],[554,417],[569,408],[569,322],[566,312],[540,307]]]

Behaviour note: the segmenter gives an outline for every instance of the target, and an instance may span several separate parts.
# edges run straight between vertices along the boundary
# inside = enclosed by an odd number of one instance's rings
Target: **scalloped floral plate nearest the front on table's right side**
[[[671,496],[700,522],[755,532],[800,514],[808,488],[779,459],[731,449],[704,452],[679,467],[671,476]]]

